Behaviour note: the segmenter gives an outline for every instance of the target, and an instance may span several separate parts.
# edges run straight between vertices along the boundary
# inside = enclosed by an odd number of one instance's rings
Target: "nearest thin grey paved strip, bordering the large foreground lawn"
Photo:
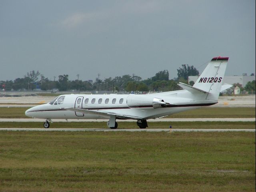
[[[255,129],[109,129],[109,128],[0,128],[0,131],[95,131],[95,132],[255,132]]]

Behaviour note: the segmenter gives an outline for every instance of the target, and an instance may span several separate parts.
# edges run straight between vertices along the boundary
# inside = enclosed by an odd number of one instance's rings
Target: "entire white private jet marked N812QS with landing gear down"
[[[221,91],[232,85],[223,84],[228,57],[214,57],[193,86],[178,83],[183,90],[152,94],[64,94],[47,104],[26,110],[26,116],[45,119],[109,119],[116,129],[116,119],[137,120],[139,128],[148,127],[147,120],[162,118],[186,110],[218,103]]]

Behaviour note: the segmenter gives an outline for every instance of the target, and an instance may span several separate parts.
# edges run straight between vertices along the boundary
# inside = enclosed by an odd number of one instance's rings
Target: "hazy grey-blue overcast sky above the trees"
[[[255,74],[255,0],[0,0],[0,80],[140,76],[182,64]]]

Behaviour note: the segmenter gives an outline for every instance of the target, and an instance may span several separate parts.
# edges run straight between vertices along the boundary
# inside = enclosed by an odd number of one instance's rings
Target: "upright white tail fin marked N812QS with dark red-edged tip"
[[[206,66],[196,83],[194,88],[207,92],[207,100],[218,100],[228,57],[214,57]]]

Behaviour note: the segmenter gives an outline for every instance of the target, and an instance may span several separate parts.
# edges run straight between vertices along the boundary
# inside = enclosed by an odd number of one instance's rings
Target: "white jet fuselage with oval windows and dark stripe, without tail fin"
[[[208,106],[216,101],[200,102],[188,96],[186,90],[158,94],[66,94],[47,104],[32,107],[25,114],[42,119],[108,119],[108,113],[119,114],[118,118],[150,119]],[[168,103],[166,105],[166,103]],[[104,112],[94,114],[77,112],[66,108]],[[137,118],[136,118],[137,117]]]

